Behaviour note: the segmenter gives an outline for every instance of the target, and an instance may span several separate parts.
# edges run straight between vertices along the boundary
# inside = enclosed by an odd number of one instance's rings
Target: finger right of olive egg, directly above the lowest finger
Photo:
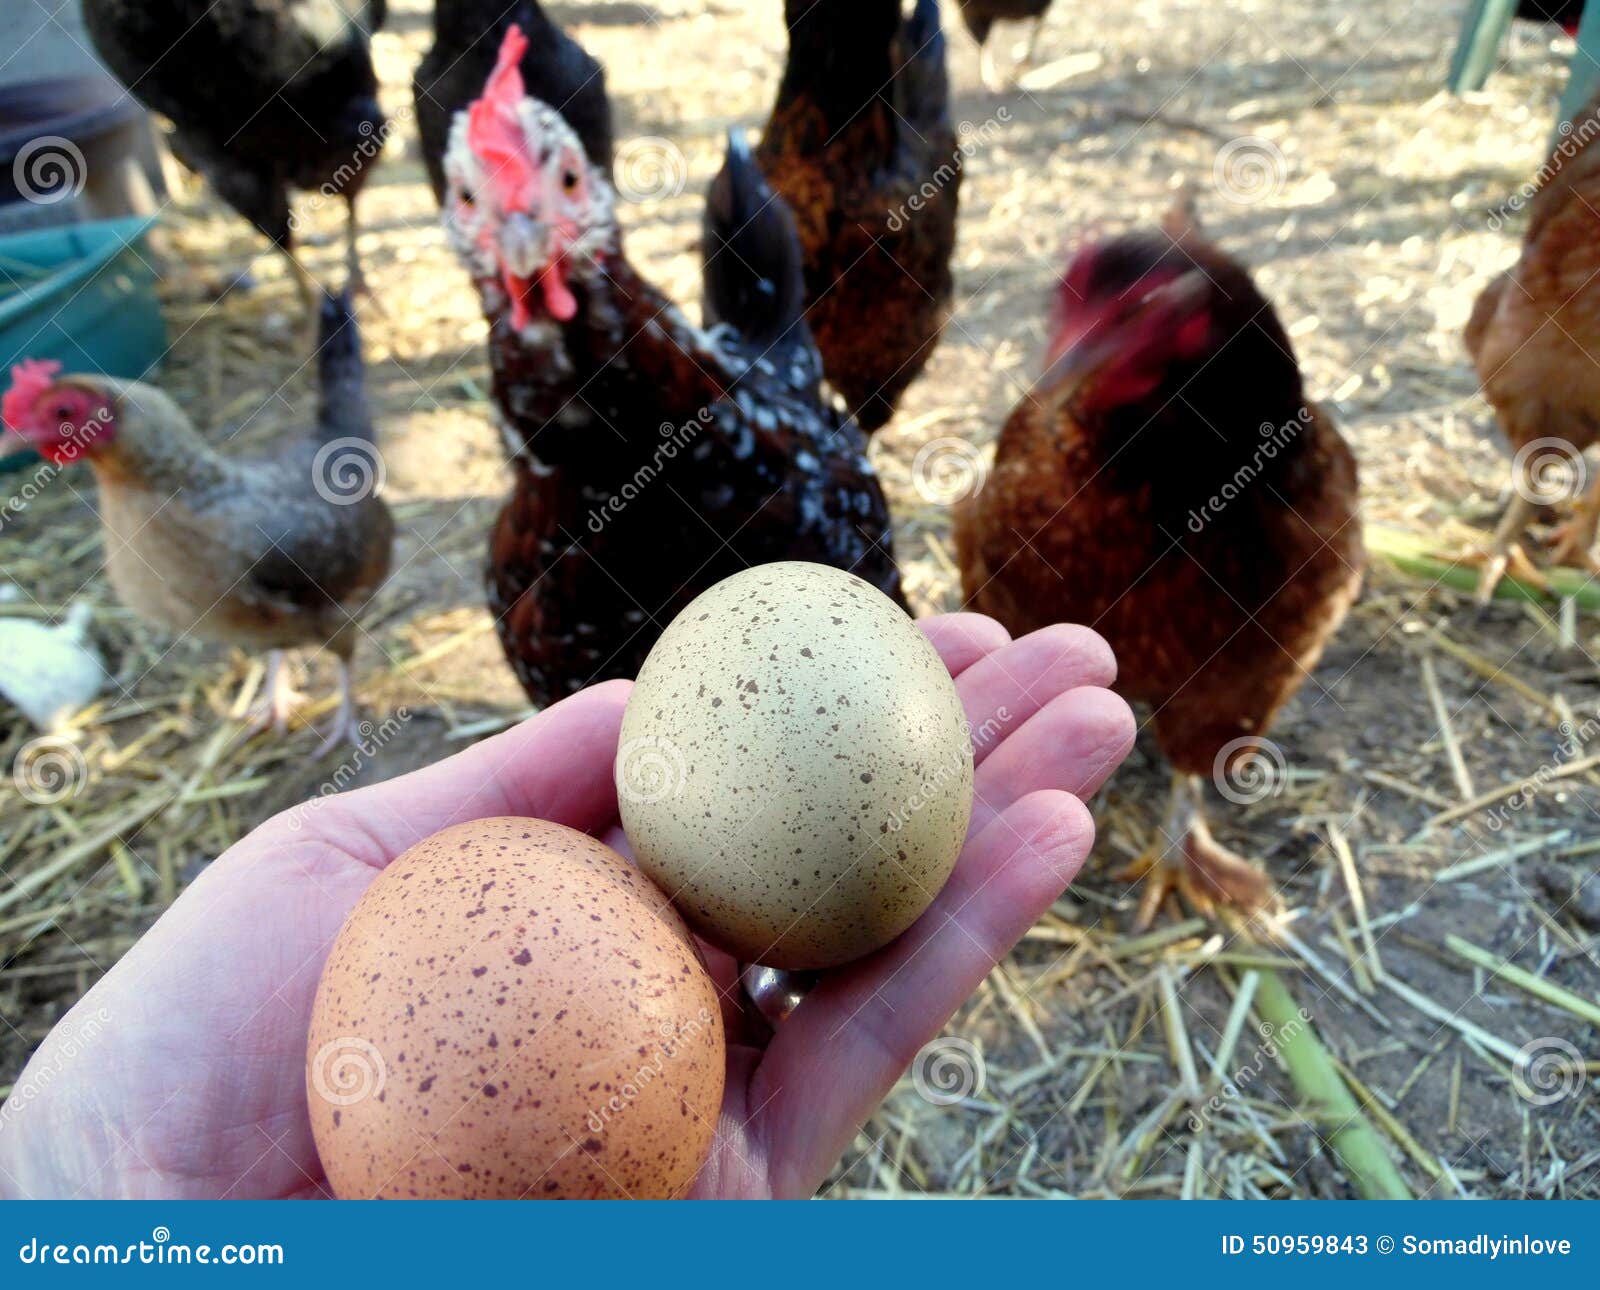
[[[978,768],[971,834],[1030,792],[1091,797],[1133,747],[1133,709],[1110,690],[1056,695]]]

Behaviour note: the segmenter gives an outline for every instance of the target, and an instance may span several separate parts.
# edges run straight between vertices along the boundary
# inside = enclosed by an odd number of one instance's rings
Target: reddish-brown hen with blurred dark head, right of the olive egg
[[[1072,259],[1048,367],[955,543],[971,608],[1018,635],[1090,624],[1152,709],[1174,779],[1141,925],[1173,887],[1261,904],[1266,877],[1211,837],[1200,779],[1226,795],[1261,775],[1259,741],[1365,555],[1355,459],[1306,400],[1272,306],[1192,214]]]

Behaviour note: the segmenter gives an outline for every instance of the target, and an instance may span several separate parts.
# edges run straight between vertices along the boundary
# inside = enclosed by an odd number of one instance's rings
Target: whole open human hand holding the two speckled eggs
[[[920,624],[974,731],[955,872],[899,939],[826,973],[763,1044],[730,1034],[696,1196],[811,1196],[894,1080],[1088,856],[1082,799],[1133,744],[1110,650],[1082,627],[1011,642]],[[325,1196],[306,1034],[334,935],[376,874],[450,824],[526,815],[627,855],[611,763],[630,685],[606,682],[445,762],[275,816],[230,847],[45,1039],[0,1119],[0,1194]],[[738,965],[706,960],[738,1015]]]

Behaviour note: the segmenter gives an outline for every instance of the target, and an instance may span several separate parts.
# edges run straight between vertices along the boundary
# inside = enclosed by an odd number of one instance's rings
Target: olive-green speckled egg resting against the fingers
[[[904,610],[826,565],[696,597],[622,717],[640,866],[744,962],[826,968],[888,944],[955,867],[973,747],[949,671]]]

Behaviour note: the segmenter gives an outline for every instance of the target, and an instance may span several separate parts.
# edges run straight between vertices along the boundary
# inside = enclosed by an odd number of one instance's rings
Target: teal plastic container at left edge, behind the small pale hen
[[[138,379],[166,352],[147,238],[154,219],[99,219],[0,237],[0,379],[22,359]],[[0,458],[0,472],[30,461]]]

